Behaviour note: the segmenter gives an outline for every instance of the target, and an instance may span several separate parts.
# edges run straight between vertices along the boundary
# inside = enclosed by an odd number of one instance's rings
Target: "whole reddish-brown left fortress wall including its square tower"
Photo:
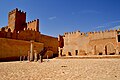
[[[22,51],[21,54],[26,56],[27,51],[30,50],[31,40],[36,44],[34,47],[37,47],[38,53],[44,52],[42,54],[47,54],[50,57],[58,55],[58,39],[39,32],[39,19],[26,22],[26,12],[17,8],[12,10],[8,14],[8,26],[0,29],[0,43],[2,45],[0,59],[21,56],[19,48]]]

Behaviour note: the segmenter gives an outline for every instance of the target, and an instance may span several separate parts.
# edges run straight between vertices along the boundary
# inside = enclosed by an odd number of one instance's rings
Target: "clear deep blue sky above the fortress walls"
[[[55,37],[120,25],[120,0],[0,0],[0,27],[8,24],[8,12],[15,8],[27,12],[27,21],[40,19],[40,32]]]

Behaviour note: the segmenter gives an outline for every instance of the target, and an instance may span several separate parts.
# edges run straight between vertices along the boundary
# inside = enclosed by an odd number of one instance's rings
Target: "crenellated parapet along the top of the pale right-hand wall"
[[[66,32],[64,33],[64,36],[75,37],[79,35],[82,37],[89,37],[90,39],[94,40],[94,39],[102,39],[102,38],[113,38],[115,37],[115,32],[116,30],[94,31],[87,33],[75,31],[75,32]]]

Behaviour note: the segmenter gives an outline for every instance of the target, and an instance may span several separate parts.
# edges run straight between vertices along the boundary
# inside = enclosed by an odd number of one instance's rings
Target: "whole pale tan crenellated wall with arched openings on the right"
[[[118,30],[100,32],[68,32],[59,36],[59,55],[113,55],[119,54]],[[63,39],[61,39],[63,38]]]

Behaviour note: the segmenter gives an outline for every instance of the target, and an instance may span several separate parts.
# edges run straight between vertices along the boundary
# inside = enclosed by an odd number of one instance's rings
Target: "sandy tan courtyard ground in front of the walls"
[[[0,62],[0,80],[120,80],[120,59]]]

